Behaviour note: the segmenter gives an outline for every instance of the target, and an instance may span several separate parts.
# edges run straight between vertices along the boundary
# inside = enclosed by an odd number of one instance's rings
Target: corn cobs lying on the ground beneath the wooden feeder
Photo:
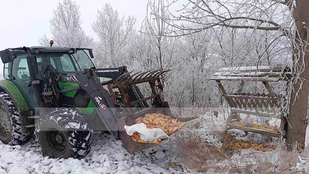
[[[261,144],[254,143],[252,141],[243,141],[243,140],[236,140],[234,143],[229,142],[226,145],[221,147],[221,154],[224,153],[226,149],[253,149],[256,151],[272,151],[275,149],[274,146],[266,146],[263,142]]]

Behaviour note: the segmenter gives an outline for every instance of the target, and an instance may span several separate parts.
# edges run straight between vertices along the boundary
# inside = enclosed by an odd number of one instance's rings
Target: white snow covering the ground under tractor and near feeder
[[[201,131],[206,142],[221,146],[222,143],[215,132],[224,125],[223,117],[219,115],[214,122],[206,114],[198,125],[191,130]],[[243,136],[239,130],[231,130],[235,137]],[[81,173],[115,173],[115,174],[165,174],[165,173],[196,173],[185,169],[181,156],[168,142],[135,154],[129,154],[122,146],[121,140],[116,140],[112,135],[97,133],[92,134],[91,151],[83,159],[50,159],[44,157],[38,149],[38,144],[32,139],[22,146],[9,146],[0,142],[0,174],[81,174]],[[259,134],[249,134],[242,139],[254,141],[272,141]],[[261,152],[262,153],[262,152]],[[270,153],[270,152],[263,152]],[[236,154],[237,156],[237,154]],[[175,164],[171,165],[169,163]],[[309,169],[309,158],[299,157],[296,166],[298,169]]]

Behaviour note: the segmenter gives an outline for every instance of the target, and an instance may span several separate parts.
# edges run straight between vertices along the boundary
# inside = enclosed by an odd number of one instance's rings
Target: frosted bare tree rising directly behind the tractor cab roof
[[[59,2],[50,19],[52,39],[59,47],[89,47],[93,38],[87,36],[81,27],[79,6],[71,0]],[[49,39],[44,35],[39,39],[40,45],[49,46]]]

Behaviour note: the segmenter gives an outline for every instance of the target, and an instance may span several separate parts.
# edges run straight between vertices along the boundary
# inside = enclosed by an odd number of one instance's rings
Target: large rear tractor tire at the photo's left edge
[[[20,114],[13,100],[6,91],[0,89],[0,140],[12,146],[22,145],[29,137],[22,132]]]

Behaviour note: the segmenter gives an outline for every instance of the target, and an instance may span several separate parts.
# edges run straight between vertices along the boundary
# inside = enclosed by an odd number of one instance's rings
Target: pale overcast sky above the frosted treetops
[[[182,0],[185,1],[185,0]],[[50,36],[49,20],[53,17],[53,10],[57,8],[59,0],[2,0],[0,2],[0,50],[22,46],[39,46],[38,39],[44,34]],[[61,0],[62,2],[62,0]],[[117,10],[119,16],[136,17],[135,28],[138,30],[146,16],[148,0],[76,0],[79,5],[82,28],[87,35],[97,39],[91,25],[97,18],[97,11],[101,10],[106,3],[110,3]],[[181,8],[171,6],[170,11]],[[1,61],[0,61],[1,62]],[[2,62],[0,72],[2,73]]]

